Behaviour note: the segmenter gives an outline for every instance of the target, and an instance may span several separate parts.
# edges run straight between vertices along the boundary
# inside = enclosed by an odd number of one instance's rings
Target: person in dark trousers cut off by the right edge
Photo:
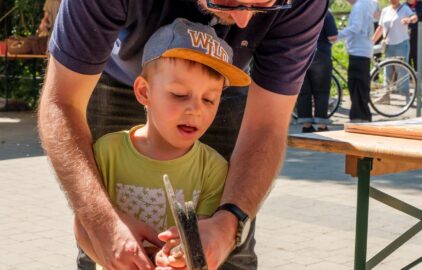
[[[410,9],[416,13],[419,21],[422,20],[422,2],[417,0],[407,0],[406,4]],[[409,24],[410,30],[410,53],[409,64],[417,71],[418,70],[418,23]]]

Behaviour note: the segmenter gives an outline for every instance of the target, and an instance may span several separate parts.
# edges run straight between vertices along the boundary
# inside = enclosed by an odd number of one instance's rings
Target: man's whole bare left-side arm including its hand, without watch
[[[41,142],[102,265],[152,269],[141,243],[148,239],[158,246],[160,241],[151,230],[122,221],[103,189],[94,160],[86,108],[98,78],[50,59],[39,105]]]

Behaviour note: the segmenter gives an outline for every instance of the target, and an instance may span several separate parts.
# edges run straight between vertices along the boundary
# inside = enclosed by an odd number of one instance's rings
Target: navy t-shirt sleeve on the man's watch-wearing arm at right
[[[296,95],[312,62],[328,1],[293,1],[257,47],[251,77],[266,90]]]

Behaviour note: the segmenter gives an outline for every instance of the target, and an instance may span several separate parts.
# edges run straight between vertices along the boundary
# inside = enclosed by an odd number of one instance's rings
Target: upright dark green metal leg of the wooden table
[[[369,184],[372,158],[358,160],[358,196],[356,209],[355,270],[366,269],[368,240]]]

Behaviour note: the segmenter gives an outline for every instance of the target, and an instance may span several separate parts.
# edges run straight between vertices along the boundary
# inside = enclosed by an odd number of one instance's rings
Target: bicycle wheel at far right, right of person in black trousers
[[[371,72],[370,105],[385,117],[402,115],[416,98],[416,74],[399,59],[387,59]]]

